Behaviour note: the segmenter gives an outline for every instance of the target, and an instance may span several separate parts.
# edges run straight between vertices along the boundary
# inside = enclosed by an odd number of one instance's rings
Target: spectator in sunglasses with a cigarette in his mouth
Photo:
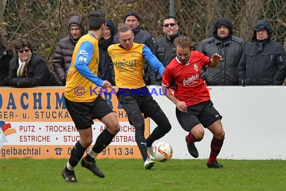
[[[180,34],[178,23],[174,17],[167,16],[162,23],[165,36],[155,41],[154,54],[166,67],[177,56],[174,40],[177,37],[183,37],[183,35]],[[150,79],[152,85],[162,85],[162,76],[152,68],[150,70]]]

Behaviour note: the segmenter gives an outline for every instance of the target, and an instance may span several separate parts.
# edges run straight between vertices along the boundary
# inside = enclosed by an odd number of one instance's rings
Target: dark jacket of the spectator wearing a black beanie
[[[139,44],[145,44],[146,46],[148,46],[152,52],[154,52],[154,43],[155,43],[155,39],[154,37],[151,35],[151,33],[141,29],[140,27],[137,27],[135,29],[132,30],[133,34],[134,34],[134,42],[135,43],[139,43]],[[113,40],[113,44],[118,44],[120,43],[118,40],[118,35],[114,35],[114,40]],[[144,64],[144,81],[146,83],[146,85],[150,85],[150,69],[149,69],[149,64],[147,62],[145,62]],[[112,72],[113,73],[113,72]]]

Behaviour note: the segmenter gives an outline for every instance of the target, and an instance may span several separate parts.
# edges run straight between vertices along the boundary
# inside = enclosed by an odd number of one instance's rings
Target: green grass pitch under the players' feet
[[[206,160],[157,162],[145,170],[141,159],[99,159],[105,178],[79,164],[78,182],[61,176],[66,159],[0,159],[0,190],[286,190],[284,160],[219,160],[224,169],[208,169]]]

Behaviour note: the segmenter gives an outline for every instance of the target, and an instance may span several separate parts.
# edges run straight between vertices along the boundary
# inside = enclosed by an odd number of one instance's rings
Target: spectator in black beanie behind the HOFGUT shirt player
[[[134,42],[139,44],[145,44],[148,46],[152,52],[154,52],[154,37],[147,31],[140,28],[140,18],[137,13],[134,11],[128,11],[124,16],[125,25],[129,26],[134,34]],[[114,35],[113,44],[120,43],[118,40],[118,35]],[[146,85],[150,85],[150,74],[149,74],[149,65],[147,62],[144,64],[144,81]]]

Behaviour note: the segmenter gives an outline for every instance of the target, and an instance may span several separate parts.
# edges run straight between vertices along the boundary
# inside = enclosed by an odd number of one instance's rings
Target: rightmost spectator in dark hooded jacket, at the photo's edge
[[[281,85],[286,76],[286,53],[271,40],[273,29],[267,20],[258,20],[253,42],[246,45],[239,68],[240,85]]]

